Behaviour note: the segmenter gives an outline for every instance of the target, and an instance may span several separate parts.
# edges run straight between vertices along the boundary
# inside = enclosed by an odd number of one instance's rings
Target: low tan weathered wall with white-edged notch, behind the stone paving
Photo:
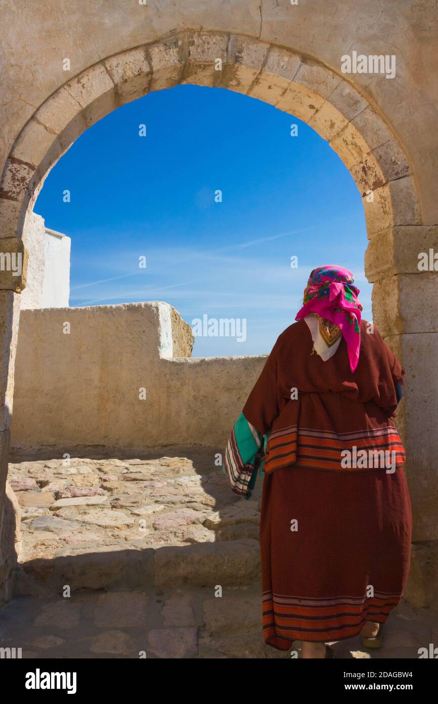
[[[192,344],[168,303],[22,310],[12,446],[222,452],[265,357],[172,356]]]

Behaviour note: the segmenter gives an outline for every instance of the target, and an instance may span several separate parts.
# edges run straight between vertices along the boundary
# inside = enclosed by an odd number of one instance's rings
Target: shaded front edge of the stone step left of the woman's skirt
[[[252,539],[193,543],[157,549],[100,548],[20,562],[17,596],[45,596],[79,589],[144,589],[169,586],[242,586],[260,581],[259,543]]]

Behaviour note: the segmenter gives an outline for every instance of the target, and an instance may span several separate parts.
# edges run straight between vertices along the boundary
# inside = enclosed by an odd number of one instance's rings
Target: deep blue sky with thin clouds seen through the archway
[[[70,306],[167,301],[190,324],[246,320],[245,341],[196,337],[193,356],[268,353],[328,263],[353,271],[371,320],[347,168],[304,122],[238,93],[184,85],[122,106],[58,161],[34,211],[72,239]]]

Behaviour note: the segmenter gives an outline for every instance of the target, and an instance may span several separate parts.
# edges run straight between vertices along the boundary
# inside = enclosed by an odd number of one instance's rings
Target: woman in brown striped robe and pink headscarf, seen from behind
[[[404,370],[361,320],[352,273],[311,272],[233,428],[224,472],[260,517],[266,643],[330,658],[326,641],[382,645],[411,554],[404,448],[392,417]]]

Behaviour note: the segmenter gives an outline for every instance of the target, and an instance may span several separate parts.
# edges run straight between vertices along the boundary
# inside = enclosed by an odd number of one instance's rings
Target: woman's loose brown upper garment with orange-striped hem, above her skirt
[[[354,372],[344,339],[326,361],[311,353],[312,346],[304,320],[285,329],[243,408],[259,432],[270,431],[264,472],[290,465],[344,470],[345,453],[353,448],[384,451],[401,465],[404,450],[390,418],[397,408],[395,384],[404,371],[377,328],[361,321]]]

